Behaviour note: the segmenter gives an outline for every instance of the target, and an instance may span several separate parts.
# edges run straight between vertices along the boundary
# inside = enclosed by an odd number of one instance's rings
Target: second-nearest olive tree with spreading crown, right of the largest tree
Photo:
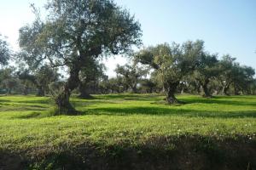
[[[151,65],[156,71],[156,77],[161,82],[166,101],[169,104],[177,103],[175,93],[183,77],[195,70],[201,55],[204,54],[204,42],[184,42],[179,45],[167,43],[156,47],[149,47],[135,54],[135,59],[144,65]]]

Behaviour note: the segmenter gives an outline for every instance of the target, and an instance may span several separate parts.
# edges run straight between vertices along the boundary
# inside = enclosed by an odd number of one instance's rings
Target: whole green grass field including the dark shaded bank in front
[[[256,168],[256,96],[94,97],[72,99],[79,116],[51,116],[47,97],[0,97],[0,169]]]

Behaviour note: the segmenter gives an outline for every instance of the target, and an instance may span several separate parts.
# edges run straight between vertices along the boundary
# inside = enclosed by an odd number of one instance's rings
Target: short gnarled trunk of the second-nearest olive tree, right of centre
[[[175,104],[178,103],[178,100],[175,97],[175,92],[177,89],[179,82],[170,82],[170,83],[166,83],[166,85],[164,85],[165,91],[166,91],[166,102],[168,104]]]

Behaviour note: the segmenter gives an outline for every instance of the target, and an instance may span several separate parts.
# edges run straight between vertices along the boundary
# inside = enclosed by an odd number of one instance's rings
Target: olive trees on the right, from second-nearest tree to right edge
[[[175,42],[156,47],[149,47],[135,54],[135,60],[154,69],[154,77],[160,82],[166,92],[168,103],[177,103],[174,94],[177,87],[194,86],[198,94],[200,88],[203,96],[212,96],[210,82],[217,82],[213,90],[228,94],[230,85],[234,85],[235,94],[251,94],[255,80],[255,71],[252,67],[241,66],[235,58],[225,55],[218,60],[217,54],[209,54],[204,49],[203,41],[184,42],[182,45]]]

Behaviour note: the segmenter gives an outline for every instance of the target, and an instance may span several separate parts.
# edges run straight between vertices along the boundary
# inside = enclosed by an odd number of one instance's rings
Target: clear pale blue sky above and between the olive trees
[[[0,0],[0,32],[16,48],[18,29],[33,19],[29,3],[45,1]],[[231,54],[256,69],[255,0],[116,0],[142,24],[145,46],[162,42],[202,39],[211,53]],[[119,57],[110,59],[108,74]]]

